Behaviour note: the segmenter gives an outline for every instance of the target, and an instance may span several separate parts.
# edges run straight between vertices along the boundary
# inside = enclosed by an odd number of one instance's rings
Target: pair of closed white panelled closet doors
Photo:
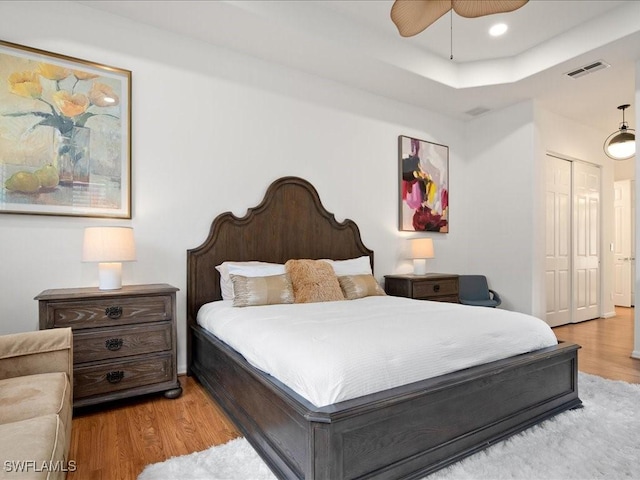
[[[600,316],[600,167],[546,156],[546,321]]]

